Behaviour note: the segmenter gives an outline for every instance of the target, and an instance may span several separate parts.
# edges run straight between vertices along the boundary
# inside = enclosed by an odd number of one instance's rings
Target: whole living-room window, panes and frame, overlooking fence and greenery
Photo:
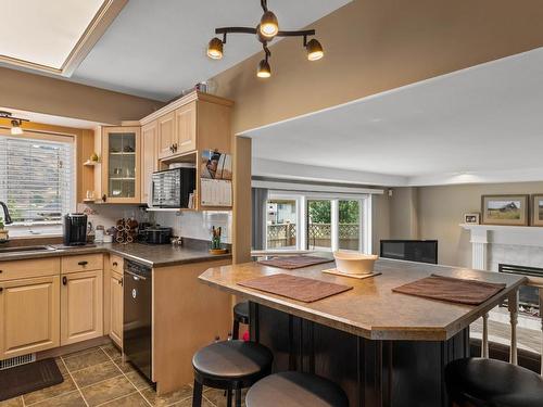
[[[266,250],[371,252],[370,195],[269,191]]]

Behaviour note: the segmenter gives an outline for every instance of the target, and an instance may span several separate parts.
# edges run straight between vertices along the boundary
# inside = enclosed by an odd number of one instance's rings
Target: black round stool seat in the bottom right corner
[[[454,360],[445,368],[445,382],[452,400],[460,406],[543,406],[543,379],[502,360]]]

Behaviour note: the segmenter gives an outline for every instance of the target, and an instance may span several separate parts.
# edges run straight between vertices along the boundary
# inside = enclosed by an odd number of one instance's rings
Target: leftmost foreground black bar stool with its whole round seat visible
[[[227,391],[231,407],[232,391],[236,407],[241,406],[241,389],[250,387],[272,371],[274,355],[263,345],[244,341],[216,342],[198,351],[192,357],[194,390],[192,407],[202,405],[203,386]]]

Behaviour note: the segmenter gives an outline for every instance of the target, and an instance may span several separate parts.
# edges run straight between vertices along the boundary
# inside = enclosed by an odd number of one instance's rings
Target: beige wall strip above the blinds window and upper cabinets
[[[164,103],[0,67],[0,106],[90,122],[139,120]]]

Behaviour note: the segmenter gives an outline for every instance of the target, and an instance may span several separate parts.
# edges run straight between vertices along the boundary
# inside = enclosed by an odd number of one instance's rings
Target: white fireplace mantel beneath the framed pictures
[[[543,227],[460,224],[470,232],[471,267],[488,269],[488,244],[516,244],[543,247]]]

